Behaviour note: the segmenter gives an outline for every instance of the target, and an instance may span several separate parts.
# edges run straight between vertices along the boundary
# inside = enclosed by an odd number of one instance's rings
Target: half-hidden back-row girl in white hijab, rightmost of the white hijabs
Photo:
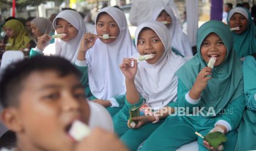
[[[186,34],[183,33],[181,25],[177,21],[172,9],[167,5],[156,8],[152,20],[157,20],[166,24],[168,32],[172,37],[172,49],[178,51],[181,55],[193,56],[192,47]]]

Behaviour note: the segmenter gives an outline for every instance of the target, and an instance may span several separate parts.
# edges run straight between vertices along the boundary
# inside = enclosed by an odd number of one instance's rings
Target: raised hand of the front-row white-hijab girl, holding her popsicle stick
[[[134,61],[133,67],[131,67],[132,61]],[[122,64],[119,67],[127,80],[134,80],[138,69],[137,60],[133,58],[124,58]]]

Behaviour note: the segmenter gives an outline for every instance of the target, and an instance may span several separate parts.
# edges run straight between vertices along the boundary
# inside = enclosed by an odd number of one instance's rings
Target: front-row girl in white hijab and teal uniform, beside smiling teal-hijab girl
[[[178,83],[175,73],[186,62],[171,50],[168,29],[159,21],[141,24],[135,32],[135,44],[140,55],[155,54],[155,57],[139,63],[135,59],[126,58],[120,66],[126,77],[126,105],[115,115],[114,125],[115,132],[130,150],[137,150],[168,115],[168,112],[159,116],[157,113],[167,109],[174,111]],[[134,67],[130,66],[132,61]],[[138,130],[134,130],[128,120],[129,110],[145,105],[152,109],[149,114],[151,116],[132,118],[138,121],[134,127]]]

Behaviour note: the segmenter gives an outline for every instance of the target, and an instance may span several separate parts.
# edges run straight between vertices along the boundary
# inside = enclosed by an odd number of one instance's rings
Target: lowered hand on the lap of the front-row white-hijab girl
[[[151,123],[152,121],[155,121],[154,116],[140,116],[140,117],[134,117],[132,118],[132,121],[138,121],[138,123],[135,125],[135,127],[130,127],[129,120],[127,121],[127,126],[130,129],[138,129],[139,127],[143,126],[144,124]]]

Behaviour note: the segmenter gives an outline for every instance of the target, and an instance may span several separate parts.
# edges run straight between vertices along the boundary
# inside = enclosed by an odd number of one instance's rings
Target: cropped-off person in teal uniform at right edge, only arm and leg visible
[[[255,57],[255,58],[254,58]],[[237,150],[256,150],[256,54],[243,61],[244,95],[247,109],[238,129]]]

